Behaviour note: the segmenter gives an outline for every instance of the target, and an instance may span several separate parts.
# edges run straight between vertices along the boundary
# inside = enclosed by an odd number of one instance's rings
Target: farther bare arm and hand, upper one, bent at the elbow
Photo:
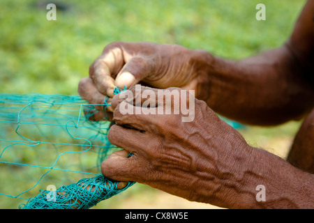
[[[287,43],[240,61],[178,45],[112,43],[91,65],[79,93],[98,104],[113,97],[114,86],[140,82],[194,89],[215,112],[242,123],[277,125],[303,118],[314,106],[313,17],[314,0],[308,0]]]

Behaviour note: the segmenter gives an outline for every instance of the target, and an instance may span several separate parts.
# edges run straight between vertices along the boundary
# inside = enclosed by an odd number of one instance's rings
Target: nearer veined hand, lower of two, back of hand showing
[[[158,91],[142,86],[141,92],[147,89]],[[165,107],[165,100],[161,104],[151,102],[149,109],[156,114],[125,114],[122,112],[124,98],[121,94],[114,96],[112,109],[116,125],[110,128],[108,139],[124,150],[112,153],[103,161],[104,176],[144,183],[191,201],[230,207],[230,188],[241,184],[237,180],[241,181],[244,169],[253,169],[249,163],[253,148],[205,102],[190,95],[183,97],[186,92],[181,89],[168,90],[168,94],[179,91],[180,103],[186,100],[188,105],[193,105],[191,101],[195,100],[193,121],[182,122],[181,113],[158,114],[158,107]],[[129,91],[135,95],[135,87]],[[136,101],[137,96],[129,101]],[[141,105],[145,102],[147,99],[142,97]],[[133,111],[140,106],[129,105]],[[129,153],[133,156],[128,157]]]

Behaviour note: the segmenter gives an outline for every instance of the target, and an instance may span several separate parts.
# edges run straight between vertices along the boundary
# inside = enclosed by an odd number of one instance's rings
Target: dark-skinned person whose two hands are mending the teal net
[[[240,61],[178,45],[108,45],[79,86],[91,103],[111,97],[107,112],[116,125],[108,139],[124,149],[103,162],[103,174],[224,208],[314,208],[313,40],[314,0],[308,0],[283,46]],[[113,89],[135,91],[137,83],[153,91],[195,90],[194,121],[183,123],[183,114],[122,115]],[[304,123],[286,161],[246,144],[216,112],[248,125]],[[257,185],[266,188],[266,201],[255,199]]]

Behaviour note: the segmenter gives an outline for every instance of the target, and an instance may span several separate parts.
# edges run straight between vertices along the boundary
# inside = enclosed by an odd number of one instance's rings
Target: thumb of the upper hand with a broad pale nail
[[[153,70],[153,63],[143,56],[133,56],[120,70],[114,84],[120,89],[130,88],[147,77]]]

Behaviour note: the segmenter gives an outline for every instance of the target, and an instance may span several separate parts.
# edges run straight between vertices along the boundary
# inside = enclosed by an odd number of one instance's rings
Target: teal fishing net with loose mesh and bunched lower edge
[[[133,185],[118,189],[100,174],[119,148],[107,140],[110,121],[89,121],[95,106],[74,95],[0,94],[0,208],[91,208]]]

